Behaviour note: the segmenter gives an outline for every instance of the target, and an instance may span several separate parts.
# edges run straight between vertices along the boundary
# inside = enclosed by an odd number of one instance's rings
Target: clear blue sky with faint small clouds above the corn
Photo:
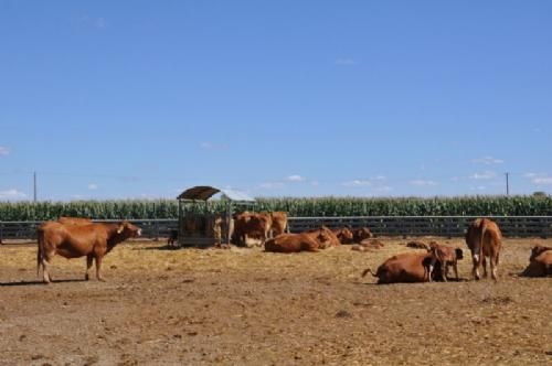
[[[552,193],[552,2],[0,0],[0,201]]]

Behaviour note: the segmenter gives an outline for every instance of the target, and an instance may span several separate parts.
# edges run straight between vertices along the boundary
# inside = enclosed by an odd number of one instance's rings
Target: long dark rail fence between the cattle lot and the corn
[[[552,237],[552,216],[486,216],[498,223],[506,237]],[[379,236],[464,236],[477,216],[352,216],[352,217],[290,217],[291,233],[326,225],[330,228],[349,225],[369,227]],[[99,222],[99,220],[98,220]],[[102,220],[116,222],[116,220]],[[142,236],[160,239],[178,228],[178,219],[130,220],[142,229]],[[36,239],[41,222],[0,222],[0,240]]]

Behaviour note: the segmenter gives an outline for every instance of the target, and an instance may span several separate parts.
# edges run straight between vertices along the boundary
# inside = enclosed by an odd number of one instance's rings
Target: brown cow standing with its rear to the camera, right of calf
[[[490,276],[497,281],[497,267],[502,247],[502,233],[497,223],[489,218],[477,218],[466,233],[466,244],[471,250],[474,268],[471,274],[479,280],[479,267],[484,267],[484,277],[487,277],[487,260],[489,257]]]

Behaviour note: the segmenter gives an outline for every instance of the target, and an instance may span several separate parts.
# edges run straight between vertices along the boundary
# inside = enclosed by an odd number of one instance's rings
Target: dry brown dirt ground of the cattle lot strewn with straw
[[[360,278],[408,239],[282,255],[119,245],[107,282],[85,259],[36,277],[34,245],[0,247],[0,365],[551,365],[552,279],[518,278],[535,243],[506,239],[499,282]],[[429,238],[422,238],[428,240]]]

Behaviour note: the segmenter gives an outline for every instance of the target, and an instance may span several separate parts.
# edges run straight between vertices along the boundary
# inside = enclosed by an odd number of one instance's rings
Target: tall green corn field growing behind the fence
[[[221,201],[200,205],[210,213],[223,212]],[[552,215],[551,196],[468,196],[436,198],[257,198],[255,211],[284,211],[289,216],[546,216]],[[0,203],[0,220],[46,220],[60,216],[96,219],[177,218],[178,202],[77,201]]]

